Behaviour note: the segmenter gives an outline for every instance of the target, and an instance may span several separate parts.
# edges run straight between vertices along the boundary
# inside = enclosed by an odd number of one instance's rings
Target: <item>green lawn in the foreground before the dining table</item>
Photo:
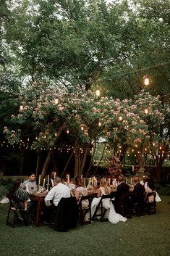
[[[60,233],[48,226],[7,226],[9,205],[0,205],[1,256],[169,256],[170,197],[162,196],[156,215],[116,225],[95,220]]]

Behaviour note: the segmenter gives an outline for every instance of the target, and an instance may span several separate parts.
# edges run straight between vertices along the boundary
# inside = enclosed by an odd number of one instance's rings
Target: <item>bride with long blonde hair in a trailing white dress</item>
[[[92,216],[93,216],[93,214],[95,212],[95,209],[96,209],[96,207],[97,207],[97,205],[98,205],[98,203],[101,199],[101,196],[105,195],[105,194],[110,194],[110,193],[111,193],[111,188],[109,186],[107,186],[106,179],[102,178],[100,188],[98,189],[98,197],[95,197],[92,201],[92,204],[91,204],[91,214],[92,214]],[[111,223],[116,224],[119,221],[125,222],[127,220],[127,218],[124,218],[122,215],[115,212],[114,205],[112,204],[110,198],[103,199],[103,207],[105,209],[107,209],[106,214],[105,214],[104,217],[108,218]],[[97,212],[97,214],[98,214],[98,212]]]

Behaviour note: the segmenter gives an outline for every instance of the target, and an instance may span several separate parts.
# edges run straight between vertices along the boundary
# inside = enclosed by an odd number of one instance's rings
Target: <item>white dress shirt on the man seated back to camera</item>
[[[53,201],[53,204],[57,206],[62,197],[70,197],[70,189],[68,186],[60,182],[56,186],[54,186],[46,195],[46,206],[51,205],[51,200]]]

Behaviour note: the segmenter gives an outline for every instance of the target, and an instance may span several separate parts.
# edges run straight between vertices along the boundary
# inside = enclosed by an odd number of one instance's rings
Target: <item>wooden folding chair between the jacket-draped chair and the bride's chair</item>
[[[82,196],[80,199],[80,202],[78,203],[79,219],[80,219],[81,225],[92,223],[91,202],[93,198],[94,198],[93,194],[88,196]],[[88,200],[88,207],[83,207],[83,201],[85,202],[85,200]],[[85,215],[88,211],[89,211],[89,220],[85,221]]]

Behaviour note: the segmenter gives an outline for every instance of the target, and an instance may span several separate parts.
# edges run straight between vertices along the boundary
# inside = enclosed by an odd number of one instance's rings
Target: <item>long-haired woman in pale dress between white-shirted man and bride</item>
[[[80,198],[82,196],[88,196],[88,190],[85,188],[82,178],[80,177],[75,177],[75,191],[74,191],[75,197],[77,199],[77,203],[79,203]],[[88,207],[89,202],[88,200],[82,201],[82,207]]]

